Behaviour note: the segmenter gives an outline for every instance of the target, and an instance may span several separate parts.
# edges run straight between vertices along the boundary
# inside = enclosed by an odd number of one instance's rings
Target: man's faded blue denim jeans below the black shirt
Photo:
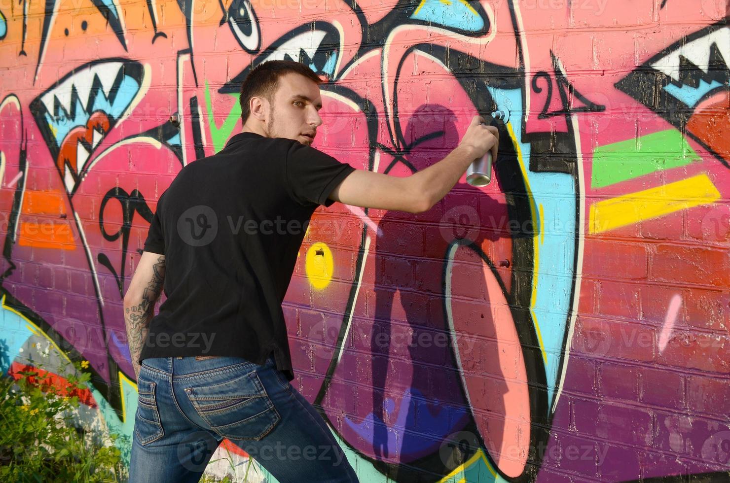
[[[263,365],[231,357],[149,358],[137,389],[130,483],[198,482],[223,438],[280,483],[358,481],[326,422],[273,356]]]

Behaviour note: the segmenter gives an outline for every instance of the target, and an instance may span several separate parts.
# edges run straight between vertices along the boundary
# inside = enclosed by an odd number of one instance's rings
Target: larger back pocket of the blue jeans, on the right
[[[281,419],[256,371],[214,385],[186,387],[185,393],[211,430],[224,438],[258,441]]]

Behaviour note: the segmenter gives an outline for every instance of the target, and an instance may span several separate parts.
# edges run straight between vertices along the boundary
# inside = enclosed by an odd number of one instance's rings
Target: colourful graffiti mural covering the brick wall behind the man
[[[288,59],[325,81],[315,147],[358,169],[408,176],[508,114],[490,185],[312,218],[293,384],[362,481],[727,481],[726,19],[721,0],[3,5],[2,369],[88,360],[80,411],[131,434],[122,301],[158,198],[240,131],[250,69]]]

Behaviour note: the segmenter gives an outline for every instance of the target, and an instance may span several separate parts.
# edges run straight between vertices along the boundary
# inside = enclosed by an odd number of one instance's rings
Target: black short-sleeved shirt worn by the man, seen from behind
[[[183,167],[160,196],[145,251],[165,255],[166,301],[145,358],[220,355],[293,379],[282,302],[310,217],[355,168],[293,139],[239,133]]]

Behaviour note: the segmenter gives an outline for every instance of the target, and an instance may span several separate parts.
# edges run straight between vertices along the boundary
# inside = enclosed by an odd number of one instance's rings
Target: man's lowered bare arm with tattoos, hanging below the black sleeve
[[[142,252],[134,277],[124,295],[124,323],[134,376],[139,376],[139,355],[150,330],[155,302],[165,280],[165,255]]]

